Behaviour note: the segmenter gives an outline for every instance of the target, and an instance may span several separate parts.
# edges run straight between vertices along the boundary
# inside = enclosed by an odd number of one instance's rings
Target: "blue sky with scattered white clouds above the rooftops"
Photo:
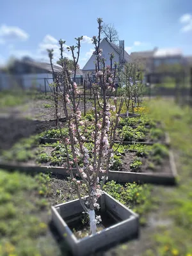
[[[58,40],[65,46],[83,36],[80,68],[93,52],[97,18],[113,24],[125,50],[179,48],[192,55],[192,1],[190,0],[0,0],[0,65],[13,56],[48,61],[47,49],[60,58]],[[65,51],[70,58],[70,53]]]

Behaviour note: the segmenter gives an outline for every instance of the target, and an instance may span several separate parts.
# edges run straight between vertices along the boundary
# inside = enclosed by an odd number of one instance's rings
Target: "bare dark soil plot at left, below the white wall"
[[[45,108],[45,104],[50,104],[51,108]],[[86,110],[88,111],[91,106],[92,103],[87,101]],[[82,100],[79,103],[79,109],[84,111]],[[33,134],[54,128],[56,125],[54,118],[51,99],[30,99],[22,106],[0,109],[0,152],[11,148],[21,138],[28,138]]]

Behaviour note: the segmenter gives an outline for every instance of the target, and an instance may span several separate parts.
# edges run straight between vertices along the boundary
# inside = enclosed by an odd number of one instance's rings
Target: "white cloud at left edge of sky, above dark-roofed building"
[[[13,42],[16,40],[19,41],[26,41],[28,40],[29,35],[24,30],[20,29],[19,27],[15,26],[6,26],[1,25],[0,27],[0,42]]]

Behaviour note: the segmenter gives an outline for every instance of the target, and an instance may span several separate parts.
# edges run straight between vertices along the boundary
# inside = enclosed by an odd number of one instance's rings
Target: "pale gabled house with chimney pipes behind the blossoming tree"
[[[100,42],[100,49],[102,49],[102,58],[106,59],[106,65],[110,65],[111,62],[109,60],[109,53],[114,54],[113,58],[113,64],[116,62],[119,62],[120,59],[120,47],[116,44],[113,44],[109,42],[108,39],[104,38]],[[124,63],[131,62],[131,57],[129,54],[124,51]],[[87,61],[87,63],[83,67],[83,77],[86,77],[87,74],[95,75],[95,55],[92,54],[90,59]]]

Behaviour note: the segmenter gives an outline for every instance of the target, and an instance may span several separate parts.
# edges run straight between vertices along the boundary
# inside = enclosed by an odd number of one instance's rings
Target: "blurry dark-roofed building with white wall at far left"
[[[54,74],[61,72],[62,67],[53,64]],[[0,89],[22,88],[35,89],[42,92],[50,91],[49,84],[54,81],[51,64],[33,61],[25,57],[22,60],[13,61],[8,67],[8,72],[1,75]]]

